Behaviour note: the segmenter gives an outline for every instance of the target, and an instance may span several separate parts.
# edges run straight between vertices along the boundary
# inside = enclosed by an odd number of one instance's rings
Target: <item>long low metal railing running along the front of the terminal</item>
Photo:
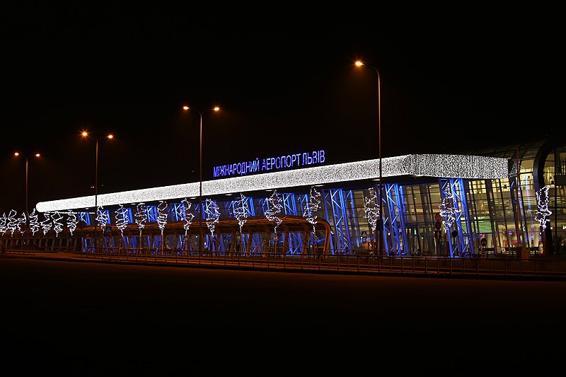
[[[34,253],[5,250],[5,253]],[[52,254],[52,253],[51,253]],[[62,253],[80,259],[114,262],[141,262],[188,267],[211,266],[268,269],[274,271],[342,272],[363,274],[403,274],[478,277],[541,277],[566,279],[565,257],[437,257],[375,255],[284,255],[280,253],[239,253],[216,251],[105,249],[93,252]]]

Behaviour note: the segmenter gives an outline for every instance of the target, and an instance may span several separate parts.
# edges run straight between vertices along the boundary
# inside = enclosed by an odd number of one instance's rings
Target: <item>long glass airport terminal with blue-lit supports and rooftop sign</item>
[[[18,217],[0,218],[4,248],[471,257],[519,244],[560,255],[566,145],[334,165],[310,151],[217,166],[204,182],[39,202]]]

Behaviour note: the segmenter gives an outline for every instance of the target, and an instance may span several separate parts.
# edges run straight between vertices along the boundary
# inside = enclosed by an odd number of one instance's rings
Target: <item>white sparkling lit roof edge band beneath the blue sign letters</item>
[[[381,168],[382,177],[424,175],[439,178],[495,179],[509,176],[507,158],[458,154],[409,154],[387,157],[381,159]],[[203,181],[202,196],[376,178],[379,178],[379,159]],[[199,182],[192,182],[102,194],[98,195],[98,205],[136,204],[198,196]],[[35,208],[40,212],[62,211],[91,208],[94,204],[95,197],[91,195],[39,202]]]

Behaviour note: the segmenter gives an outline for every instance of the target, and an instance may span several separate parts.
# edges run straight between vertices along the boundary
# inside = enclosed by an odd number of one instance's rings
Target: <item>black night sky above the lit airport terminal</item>
[[[233,12],[231,12],[233,11]],[[264,11],[32,7],[0,12],[0,214],[25,203],[198,181],[212,167],[325,150],[326,163],[555,134],[563,48],[550,8]],[[246,16],[239,16],[246,14]]]

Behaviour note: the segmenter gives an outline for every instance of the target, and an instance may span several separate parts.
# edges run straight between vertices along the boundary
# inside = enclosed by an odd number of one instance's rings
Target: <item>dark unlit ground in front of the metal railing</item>
[[[0,302],[2,359],[22,373],[461,375],[565,356],[566,282],[3,257]]]

